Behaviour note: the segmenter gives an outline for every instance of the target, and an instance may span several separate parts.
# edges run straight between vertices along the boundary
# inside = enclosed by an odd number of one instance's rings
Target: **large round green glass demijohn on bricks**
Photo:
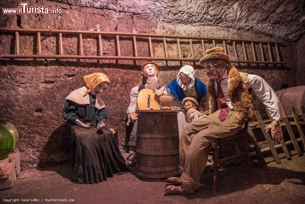
[[[0,160],[7,158],[16,146],[18,131],[16,127],[5,120],[0,120]]]

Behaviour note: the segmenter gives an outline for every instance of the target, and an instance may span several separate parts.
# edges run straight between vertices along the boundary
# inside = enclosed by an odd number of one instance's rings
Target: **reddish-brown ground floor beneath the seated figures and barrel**
[[[13,188],[0,191],[3,199],[74,199],[75,203],[305,203],[305,156],[291,151],[292,160],[280,154],[282,163],[266,158],[268,170],[252,158],[249,179],[245,162],[219,172],[218,193],[212,192],[213,172],[205,172],[202,185],[192,195],[168,195],[164,182],[145,182],[133,171],[98,184],[71,182],[70,164],[22,171]],[[267,156],[267,155],[265,155]],[[33,201],[33,200],[32,200]],[[8,203],[13,203],[8,202]],[[33,203],[33,202],[27,202]],[[55,203],[55,202],[52,202]]]

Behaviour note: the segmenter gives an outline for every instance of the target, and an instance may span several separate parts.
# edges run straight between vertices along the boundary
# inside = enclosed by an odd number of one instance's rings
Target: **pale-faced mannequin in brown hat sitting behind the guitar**
[[[132,128],[131,134],[130,134],[130,140],[128,142],[129,146],[129,156],[127,157],[127,165],[128,166],[134,166],[135,165],[135,147],[136,147],[136,133],[137,133],[137,120],[138,120],[138,114],[135,112],[138,109],[137,100],[139,92],[142,89],[151,89],[156,91],[157,89],[160,89],[160,86],[158,85],[158,64],[154,62],[145,62],[142,64],[142,71],[143,75],[146,78],[146,83],[144,85],[135,86],[130,91],[130,103],[127,108],[127,126],[130,125],[130,123],[133,123],[134,126]]]

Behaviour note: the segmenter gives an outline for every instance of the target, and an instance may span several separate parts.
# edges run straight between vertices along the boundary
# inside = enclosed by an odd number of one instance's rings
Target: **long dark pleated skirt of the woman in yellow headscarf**
[[[108,127],[97,130],[96,127],[71,125],[71,131],[74,182],[93,184],[131,171]]]

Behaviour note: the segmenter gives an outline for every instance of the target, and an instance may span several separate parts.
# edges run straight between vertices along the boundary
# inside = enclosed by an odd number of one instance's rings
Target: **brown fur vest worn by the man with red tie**
[[[233,65],[228,65],[228,94],[232,102],[236,118],[240,121],[251,121],[253,118],[252,96],[246,89],[249,83],[247,73],[239,72]],[[207,83],[210,93],[210,114],[218,110],[218,100],[215,91],[214,80],[209,78]]]

